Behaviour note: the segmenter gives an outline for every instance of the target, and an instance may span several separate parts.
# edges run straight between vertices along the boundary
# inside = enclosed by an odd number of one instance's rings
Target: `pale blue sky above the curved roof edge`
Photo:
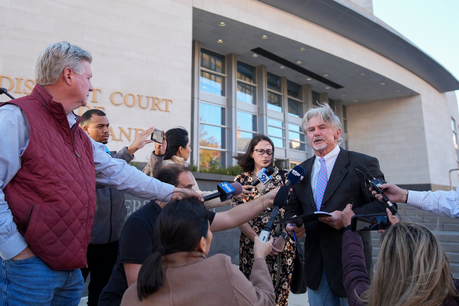
[[[459,79],[459,0],[373,0],[373,14]]]

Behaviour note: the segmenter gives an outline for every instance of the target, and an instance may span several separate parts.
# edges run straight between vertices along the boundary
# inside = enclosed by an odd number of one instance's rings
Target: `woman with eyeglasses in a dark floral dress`
[[[285,184],[288,170],[274,167],[274,144],[268,136],[256,134],[250,142],[246,153],[233,156],[244,170],[244,173],[235,177],[234,181],[241,183],[244,187],[239,198],[233,198],[233,206],[263,196],[269,190]],[[257,184],[250,191],[245,185],[252,185],[257,180],[257,172],[263,168],[274,167],[275,172],[266,184]],[[263,199],[263,198],[262,198]],[[265,204],[266,205],[266,204]],[[267,206],[267,205],[266,205]],[[274,206],[267,206],[257,217],[249,223],[239,226],[241,237],[239,240],[239,269],[246,278],[250,277],[253,266],[253,239],[258,236],[266,223],[269,221]],[[281,208],[277,214],[276,221],[284,219],[284,209]],[[271,253],[266,257],[271,279],[273,280],[276,294],[276,305],[286,306],[290,291],[290,280],[292,272],[292,261],[295,257],[295,245],[285,231],[282,224],[277,224],[271,230],[274,243]]]

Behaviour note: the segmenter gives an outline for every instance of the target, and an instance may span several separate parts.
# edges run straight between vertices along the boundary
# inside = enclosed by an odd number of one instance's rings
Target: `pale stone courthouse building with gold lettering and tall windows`
[[[341,147],[377,157],[387,181],[419,190],[459,183],[450,175],[459,168],[459,82],[376,18],[371,0],[6,0],[0,8],[0,86],[30,93],[39,52],[52,42],[89,50],[95,90],[77,112],[106,112],[110,150],[150,126],[181,126],[191,163],[229,166],[263,133],[276,165],[291,168],[313,155],[303,114],[327,101],[341,118]]]

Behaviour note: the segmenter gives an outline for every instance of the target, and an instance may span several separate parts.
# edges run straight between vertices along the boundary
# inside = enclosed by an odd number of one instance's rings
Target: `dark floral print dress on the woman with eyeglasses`
[[[233,199],[233,206],[253,200],[269,192],[271,189],[282,186],[284,184],[285,178],[287,177],[288,170],[279,170],[277,167],[275,167],[275,169],[276,171],[274,172],[271,180],[264,185],[263,190],[261,190],[259,185],[257,185],[255,189],[253,189],[252,194],[249,195],[247,199]],[[254,174],[253,171],[239,174],[234,179],[235,182],[239,182],[241,185],[251,185],[256,180],[256,174]],[[249,221],[249,224],[252,226],[257,235],[259,235],[261,230],[266,227],[273,209],[274,206],[271,205],[267,207],[266,210],[262,211],[257,217]],[[280,221],[282,219],[284,219],[284,209],[280,208],[275,221]],[[279,236],[279,234],[282,232],[282,229],[283,224],[274,225],[271,230],[271,235]],[[294,257],[295,245],[293,242],[291,244],[286,242],[283,252],[279,253],[278,255],[266,256],[266,264],[268,265],[269,274],[271,274],[271,279],[273,280],[277,306],[287,306],[288,304],[292,263]],[[241,237],[239,239],[239,269],[242,271],[242,273],[244,273],[247,279],[250,278],[252,266],[253,241],[241,232]]]

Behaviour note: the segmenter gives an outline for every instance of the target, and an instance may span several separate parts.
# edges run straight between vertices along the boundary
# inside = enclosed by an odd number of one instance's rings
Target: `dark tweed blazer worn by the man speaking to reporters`
[[[316,211],[311,187],[314,159],[315,156],[301,163],[301,166],[306,169],[306,174],[299,184],[294,185],[290,200],[285,206],[285,218]],[[350,203],[351,198],[355,201],[353,211],[356,215],[386,211],[385,204],[376,200],[369,192],[370,186],[368,184],[365,186],[355,175],[354,168],[358,164],[364,165],[375,178],[384,181],[384,174],[379,169],[379,161],[375,157],[341,148],[325,189],[321,211],[342,211]],[[304,228],[306,229],[304,250],[308,287],[314,290],[318,288],[323,264],[331,293],[338,297],[346,297],[342,284],[341,264],[341,241],[344,228],[336,230],[319,221],[305,223]],[[369,232],[361,236],[367,270],[369,275],[372,275],[371,236]]]

